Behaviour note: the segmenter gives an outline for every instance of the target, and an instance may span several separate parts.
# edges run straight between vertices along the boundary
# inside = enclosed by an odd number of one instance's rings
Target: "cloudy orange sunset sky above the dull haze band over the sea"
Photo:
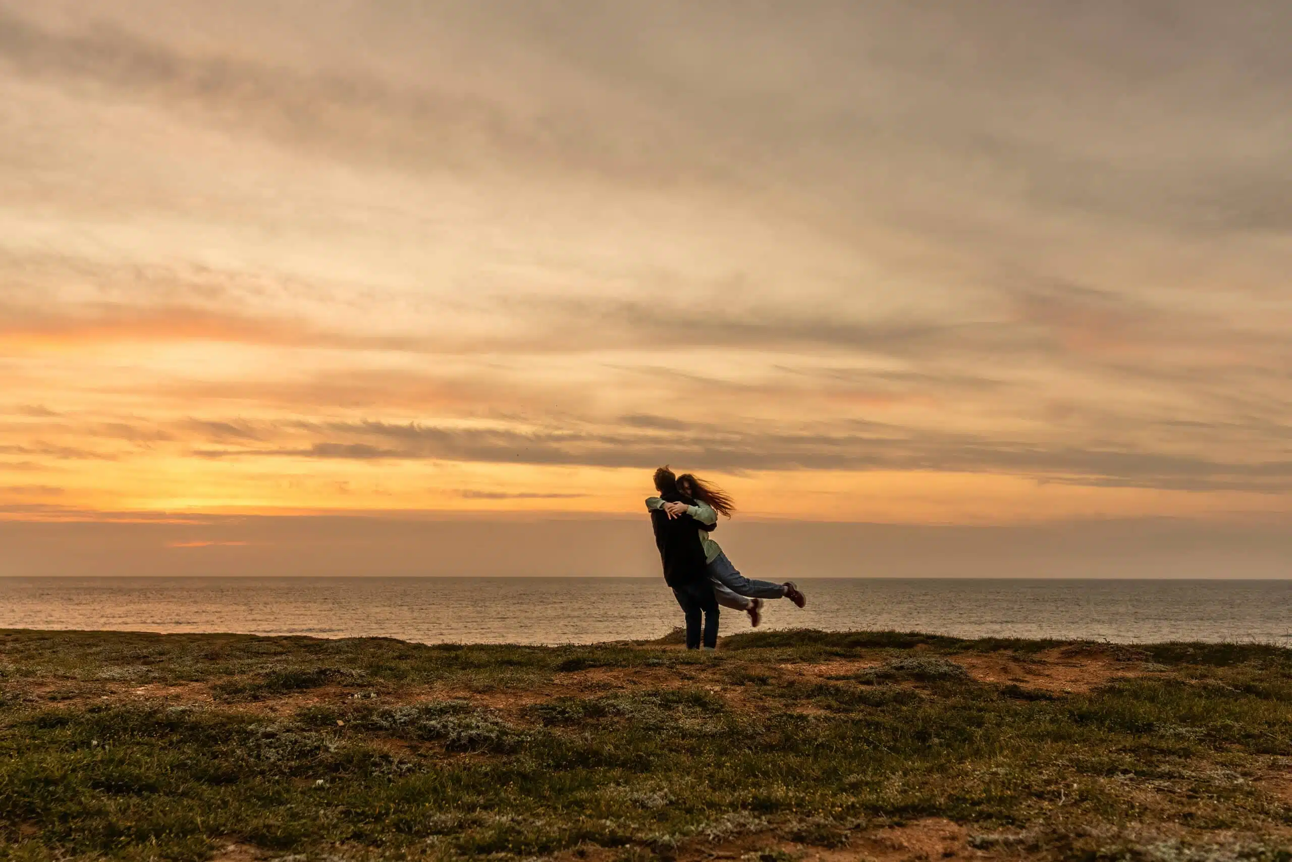
[[[302,518],[649,544],[662,463],[748,536],[1286,535],[1288,44],[1211,0],[0,0],[0,574],[278,571],[238,554]]]

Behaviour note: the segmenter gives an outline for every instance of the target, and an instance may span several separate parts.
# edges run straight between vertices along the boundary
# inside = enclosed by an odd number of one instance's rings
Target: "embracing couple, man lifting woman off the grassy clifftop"
[[[646,508],[664,563],[664,582],[686,615],[686,649],[700,649],[702,641],[707,650],[717,647],[718,605],[747,613],[757,625],[765,598],[788,598],[798,607],[808,604],[792,580],[751,580],[722,553],[709,534],[717,527],[718,514],[731,517],[735,510],[725,492],[690,473],[674,476],[668,467],[655,470],[655,490],[659,496],[647,498]]]

